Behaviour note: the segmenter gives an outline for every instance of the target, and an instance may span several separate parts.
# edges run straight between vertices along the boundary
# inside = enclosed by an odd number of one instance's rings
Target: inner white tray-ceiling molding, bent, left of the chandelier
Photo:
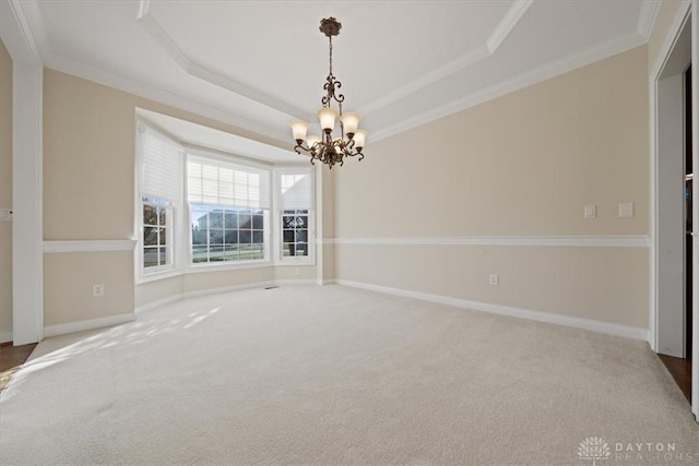
[[[285,113],[292,118],[296,118],[298,115],[306,115],[307,111],[287,104],[279,98],[272,97],[269,94],[260,92],[253,87],[242,84],[236,80],[224,76],[221,73],[216,73],[202,64],[192,61],[177,45],[169,34],[165,32],[163,26],[153,17],[150,13],[150,2],[147,0],[141,0],[139,4],[139,13],[137,20],[145,28],[145,31],[155,39],[155,41],[163,47],[165,52],[169,55],[173,60],[190,76],[199,77],[208,83],[214,84],[218,87],[223,87],[235,94],[247,97],[258,104],[264,105],[273,110]]]

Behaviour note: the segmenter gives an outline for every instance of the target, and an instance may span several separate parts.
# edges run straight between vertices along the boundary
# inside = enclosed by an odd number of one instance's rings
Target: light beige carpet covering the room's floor
[[[580,457],[588,438],[608,454]],[[190,299],[49,338],[0,395],[3,465],[593,456],[699,464],[699,425],[645,343],[341,286]]]

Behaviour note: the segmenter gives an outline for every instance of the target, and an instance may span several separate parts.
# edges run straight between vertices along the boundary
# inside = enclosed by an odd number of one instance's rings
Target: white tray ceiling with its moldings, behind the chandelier
[[[315,121],[333,71],[380,138],[644,44],[655,0],[13,0],[47,67],[263,133]]]

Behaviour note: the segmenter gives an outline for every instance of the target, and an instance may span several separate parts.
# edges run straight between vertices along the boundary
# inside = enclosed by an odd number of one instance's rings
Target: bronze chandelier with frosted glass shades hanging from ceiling
[[[330,41],[330,73],[325,79],[323,89],[325,95],[321,99],[322,107],[318,110],[317,116],[320,120],[320,128],[322,129],[322,135],[306,135],[308,132],[309,123],[303,120],[292,121],[292,132],[294,133],[294,140],[296,141],[297,154],[301,151],[310,155],[310,163],[315,164],[316,160],[320,160],[332,169],[332,166],[344,164],[344,157],[359,156],[359,160],[364,158],[362,150],[364,148],[364,142],[367,136],[367,132],[357,130],[362,117],[359,113],[353,111],[342,111],[342,103],[345,100],[345,96],[337,94],[337,89],[342,87],[342,83],[335,80],[332,74],[332,37],[340,34],[342,24],[334,17],[328,17],[320,21],[320,32],[323,33]],[[333,100],[337,105],[337,109],[334,109],[331,104]],[[335,119],[340,117],[340,136],[333,138],[333,130],[335,127]]]

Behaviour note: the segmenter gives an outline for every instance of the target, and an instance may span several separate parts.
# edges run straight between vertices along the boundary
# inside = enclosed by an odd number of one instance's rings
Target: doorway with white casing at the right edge
[[[699,380],[696,342],[699,296],[699,250],[695,244],[692,202],[694,166],[697,166],[697,76],[692,60],[692,28],[697,19],[684,8],[671,31],[672,44],[651,74],[653,86],[653,314],[651,342],[699,420]],[[694,136],[694,138],[692,138]],[[692,319],[694,316],[694,319]],[[694,327],[694,328],[692,328]],[[692,360],[695,359],[695,360]],[[692,378],[694,374],[694,378]],[[692,380],[694,379],[694,380]],[[692,399],[694,398],[694,399]]]

